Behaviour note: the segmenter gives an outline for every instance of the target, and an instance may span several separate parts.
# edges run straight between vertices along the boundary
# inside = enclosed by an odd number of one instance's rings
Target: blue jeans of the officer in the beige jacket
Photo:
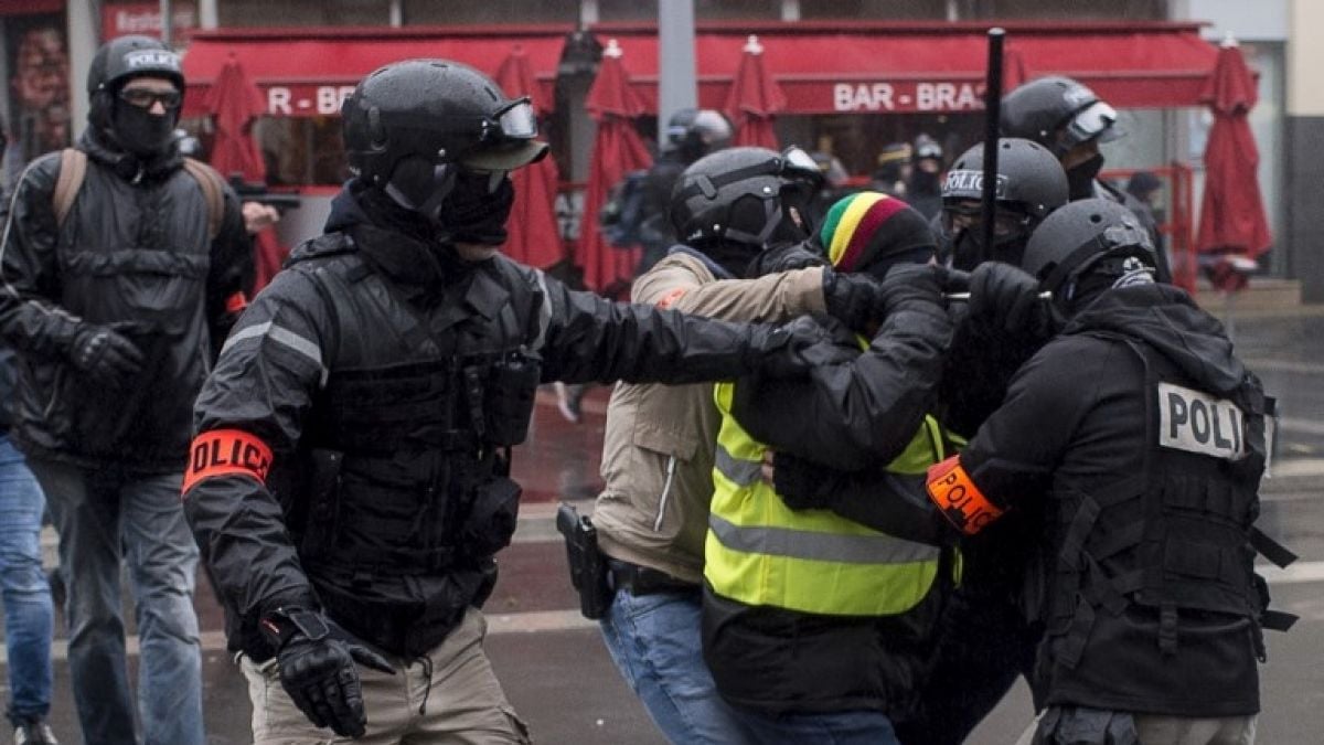
[[[700,599],[698,591],[618,591],[600,622],[606,650],[671,742],[756,742],[718,696],[703,664]]]

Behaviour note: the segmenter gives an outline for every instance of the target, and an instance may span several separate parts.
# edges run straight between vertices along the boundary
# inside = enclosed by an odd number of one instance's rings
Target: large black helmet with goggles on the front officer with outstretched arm
[[[363,78],[340,107],[350,167],[383,186],[404,159],[504,172],[547,155],[528,98],[448,60],[405,60]],[[430,174],[429,174],[430,175]]]

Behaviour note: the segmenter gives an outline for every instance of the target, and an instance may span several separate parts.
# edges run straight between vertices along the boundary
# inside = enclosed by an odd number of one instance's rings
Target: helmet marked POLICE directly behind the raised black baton
[[[1030,232],[1067,203],[1067,175],[1042,144],[1019,138],[997,141],[997,224],[994,245],[980,249],[984,196],[984,143],[963,152],[943,182],[943,228],[955,244],[956,268],[972,269],[986,258],[1016,262]]]

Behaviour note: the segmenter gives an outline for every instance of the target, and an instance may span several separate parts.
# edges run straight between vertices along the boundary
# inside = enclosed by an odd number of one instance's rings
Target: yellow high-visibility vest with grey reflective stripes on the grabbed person
[[[792,510],[760,477],[764,445],[730,415],[731,383],[715,387],[723,415],[714,463],[704,578],[719,595],[824,615],[896,615],[937,575],[940,549],[888,536],[829,510]],[[941,460],[932,418],[888,465],[923,472]]]

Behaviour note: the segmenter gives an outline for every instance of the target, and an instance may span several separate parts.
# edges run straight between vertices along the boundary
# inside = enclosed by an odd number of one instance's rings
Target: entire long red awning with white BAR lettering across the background
[[[1008,23],[1008,54],[1033,78],[1071,76],[1113,106],[1200,106],[1217,49],[1200,25],[1170,21]],[[982,107],[986,23],[704,21],[695,40],[699,102],[722,109],[751,33],[786,95],[786,114],[972,111]],[[572,27],[406,27],[401,29],[230,29],[199,32],[184,57],[185,114],[233,50],[267,97],[267,113],[335,114],[364,74],[408,57],[446,57],[495,74],[519,44],[553,101],[556,68]],[[657,27],[596,24],[617,38],[633,85],[657,107]]]

